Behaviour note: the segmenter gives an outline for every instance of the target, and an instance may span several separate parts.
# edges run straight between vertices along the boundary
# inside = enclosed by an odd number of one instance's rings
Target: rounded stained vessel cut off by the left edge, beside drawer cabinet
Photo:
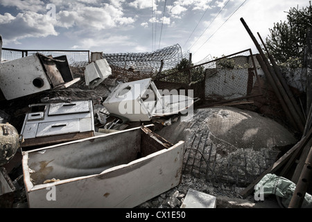
[[[0,166],[10,162],[22,140],[14,126],[9,123],[0,123]]]

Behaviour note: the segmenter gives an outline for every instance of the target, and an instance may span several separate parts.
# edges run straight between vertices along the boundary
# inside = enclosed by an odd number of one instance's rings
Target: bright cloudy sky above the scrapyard
[[[252,49],[308,0],[0,0],[3,47],[151,52],[180,44],[193,61]]]

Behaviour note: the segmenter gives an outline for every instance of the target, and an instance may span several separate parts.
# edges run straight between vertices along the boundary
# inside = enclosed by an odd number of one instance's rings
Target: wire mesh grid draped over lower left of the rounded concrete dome
[[[248,185],[275,162],[279,151],[263,148],[236,149],[231,144],[214,137],[205,119],[209,110],[195,110],[193,133],[186,139],[183,173],[189,173],[209,182],[226,182],[234,185]],[[232,152],[228,152],[232,150]],[[227,151],[227,154],[223,153]]]

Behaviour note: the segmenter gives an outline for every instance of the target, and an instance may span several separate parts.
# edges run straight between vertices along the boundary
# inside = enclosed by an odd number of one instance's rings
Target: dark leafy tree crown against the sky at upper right
[[[304,58],[307,29],[312,26],[312,6],[291,8],[287,21],[275,23],[266,46],[279,65],[300,67]]]

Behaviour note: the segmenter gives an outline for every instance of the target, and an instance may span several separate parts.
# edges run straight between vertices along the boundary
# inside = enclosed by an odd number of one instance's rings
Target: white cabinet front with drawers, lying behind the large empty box
[[[21,147],[67,142],[94,136],[92,101],[30,105],[21,135]]]

